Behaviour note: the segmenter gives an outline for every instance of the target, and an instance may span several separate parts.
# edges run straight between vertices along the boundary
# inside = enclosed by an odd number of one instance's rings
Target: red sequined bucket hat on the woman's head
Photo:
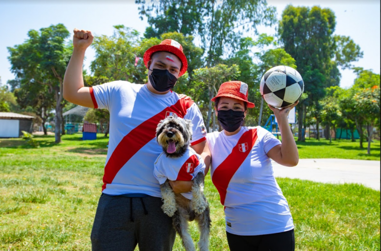
[[[229,81],[221,84],[217,96],[212,98],[212,101],[215,102],[218,97],[229,97],[242,100],[246,102],[248,108],[253,108],[255,105],[248,101],[248,93],[249,87],[247,83],[241,81]]]

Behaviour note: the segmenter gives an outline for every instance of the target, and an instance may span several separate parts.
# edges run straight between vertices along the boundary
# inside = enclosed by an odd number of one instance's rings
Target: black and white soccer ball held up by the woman
[[[259,91],[270,106],[288,107],[302,96],[304,82],[296,69],[279,65],[264,73],[260,80]]]

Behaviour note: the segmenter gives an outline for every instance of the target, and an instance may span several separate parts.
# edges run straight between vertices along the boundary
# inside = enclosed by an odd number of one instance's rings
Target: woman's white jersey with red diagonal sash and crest
[[[242,126],[231,136],[208,133],[212,182],[225,206],[226,231],[265,235],[294,228],[286,198],[279,188],[267,152],[281,144],[266,129]]]

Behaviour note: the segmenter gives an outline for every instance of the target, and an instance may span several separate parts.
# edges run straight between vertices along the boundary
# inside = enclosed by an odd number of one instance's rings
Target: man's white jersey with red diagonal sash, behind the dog
[[[156,142],[160,120],[177,114],[193,124],[191,144],[205,140],[202,115],[190,99],[175,92],[158,95],[146,85],[114,81],[90,88],[95,108],[110,111],[110,142],[102,192],[110,195],[143,193],[161,197],[153,164],[163,151]]]

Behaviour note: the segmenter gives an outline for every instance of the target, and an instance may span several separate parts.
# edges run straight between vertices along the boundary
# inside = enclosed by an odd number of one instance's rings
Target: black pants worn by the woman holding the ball
[[[295,251],[294,230],[269,235],[233,235],[226,232],[230,251]]]

